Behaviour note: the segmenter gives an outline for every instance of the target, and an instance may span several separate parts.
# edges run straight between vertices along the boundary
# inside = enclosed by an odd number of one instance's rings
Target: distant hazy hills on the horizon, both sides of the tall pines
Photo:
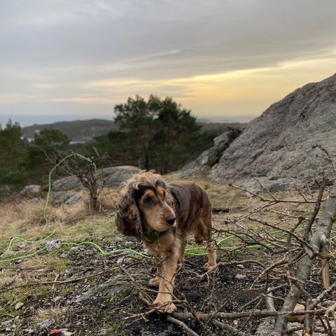
[[[225,132],[228,127],[239,128],[241,130],[246,127],[246,124],[242,123],[200,123],[203,130],[221,130]],[[55,128],[68,135],[71,141],[90,141],[93,137],[106,134],[110,130],[116,131],[118,127],[111,120],[105,119],[90,119],[90,120],[73,120],[73,121],[61,121],[52,124],[32,125],[28,127],[22,127],[22,135],[26,139],[34,139],[34,134],[45,128]]]

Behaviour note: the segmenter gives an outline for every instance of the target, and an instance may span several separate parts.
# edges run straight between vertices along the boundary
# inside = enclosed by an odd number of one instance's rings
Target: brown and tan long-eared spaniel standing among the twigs
[[[195,235],[197,244],[207,241],[207,271],[216,267],[216,249],[211,239],[211,203],[207,193],[196,183],[165,183],[153,172],[135,174],[125,182],[116,213],[116,227],[123,235],[143,241],[153,253],[156,276],[149,281],[159,292],[153,307],[172,313],[174,276],[184,260],[186,237]]]

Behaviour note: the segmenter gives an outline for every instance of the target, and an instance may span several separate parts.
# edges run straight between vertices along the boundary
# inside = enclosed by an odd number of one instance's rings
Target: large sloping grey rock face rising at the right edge
[[[209,177],[251,191],[261,188],[253,176],[270,189],[321,179],[323,172],[332,178],[325,154],[314,148],[318,144],[335,158],[336,74],[304,85],[252,120]]]

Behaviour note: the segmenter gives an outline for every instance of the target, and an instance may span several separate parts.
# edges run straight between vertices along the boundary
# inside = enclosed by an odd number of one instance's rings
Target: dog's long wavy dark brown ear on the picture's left
[[[116,226],[123,235],[141,239],[143,235],[141,218],[132,194],[132,192],[128,191],[121,197],[116,213]]]

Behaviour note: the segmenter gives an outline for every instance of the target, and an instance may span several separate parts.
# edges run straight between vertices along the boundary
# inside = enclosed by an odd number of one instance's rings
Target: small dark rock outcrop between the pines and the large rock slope
[[[204,151],[195,161],[188,163],[181,170],[181,177],[187,177],[200,172],[207,172],[211,167],[218,163],[232,141],[241,134],[241,130],[230,130],[224,132],[214,139],[214,147]]]

